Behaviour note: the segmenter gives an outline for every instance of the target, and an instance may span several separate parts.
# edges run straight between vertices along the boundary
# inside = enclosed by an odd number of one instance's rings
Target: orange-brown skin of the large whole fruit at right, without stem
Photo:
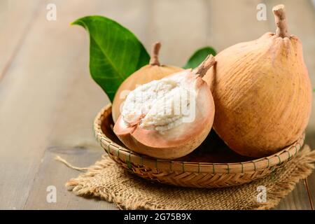
[[[260,158],[293,144],[311,113],[311,83],[295,36],[267,33],[216,55],[204,80],[216,105],[214,130],[235,152]]]

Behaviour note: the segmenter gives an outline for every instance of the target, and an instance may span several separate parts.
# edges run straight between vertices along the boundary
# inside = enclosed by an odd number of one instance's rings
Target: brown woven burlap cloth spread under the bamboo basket
[[[84,174],[66,183],[80,196],[99,197],[120,209],[271,209],[314,169],[315,151],[304,146],[292,160],[265,179],[230,188],[181,188],[141,179],[107,155]],[[77,167],[74,167],[76,169]],[[267,202],[258,202],[257,187],[267,188]]]

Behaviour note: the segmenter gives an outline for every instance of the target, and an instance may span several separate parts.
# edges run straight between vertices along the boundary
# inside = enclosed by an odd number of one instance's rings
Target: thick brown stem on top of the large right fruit
[[[288,25],[286,24],[286,12],[284,11],[283,5],[274,6],[272,8],[274,13],[274,19],[276,22],[276,36],[282,38],[289,37],[288,35]]]

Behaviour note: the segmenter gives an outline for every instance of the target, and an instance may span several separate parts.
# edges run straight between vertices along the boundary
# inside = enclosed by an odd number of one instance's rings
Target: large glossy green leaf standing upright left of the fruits
[[[94,15],[72,23],[90,34],[90,73],[113,101],[123,80],[148,64],[150,56],[131,31],[109,18]]]

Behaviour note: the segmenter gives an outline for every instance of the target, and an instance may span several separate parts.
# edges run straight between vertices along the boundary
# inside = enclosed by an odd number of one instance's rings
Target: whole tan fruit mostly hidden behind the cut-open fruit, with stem
[[[113,121],[116,122],[120,116],[120,111],[123,107],[127,94],[134,90],[137,85],[142,85],[152,80],[159,80],[170,74],[181,71],[183,69],[176,66],[162,65],[159,62],[158,54],[161,48],[161,43],[155,43],[151,52],[151,60],[148,65],[143,66],[138,71],[135,71],[130,75],[118,88],[115,97],[113,99],[112,116]]]

